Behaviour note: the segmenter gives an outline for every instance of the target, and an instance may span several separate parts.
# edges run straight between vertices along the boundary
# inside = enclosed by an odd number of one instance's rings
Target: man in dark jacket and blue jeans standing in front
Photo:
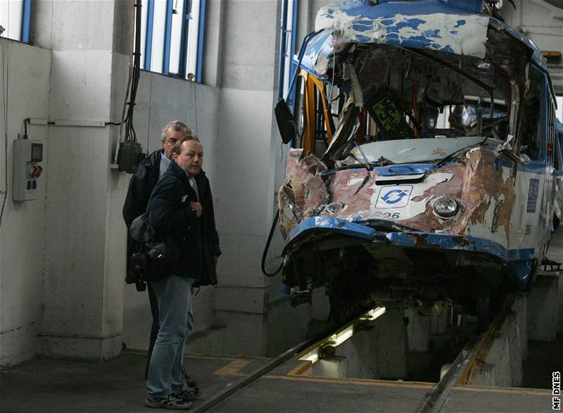
[[[213,198],[202,163],[198,139],[180,139],[148,201],[148,222],[167,247],[165,269],[150,282],[158,298],[160,330],[146,381],[148,407],[188,409],[194,396],[184,379],[183,357],[191,329],[191,296],[196,285],[216,284],[220,254]]]

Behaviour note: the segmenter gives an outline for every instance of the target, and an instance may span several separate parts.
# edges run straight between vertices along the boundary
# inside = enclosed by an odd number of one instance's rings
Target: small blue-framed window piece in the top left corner
[[[2,37],[30,42],[30,18],[32,0],[1,0],[0,25],[4,27]]]

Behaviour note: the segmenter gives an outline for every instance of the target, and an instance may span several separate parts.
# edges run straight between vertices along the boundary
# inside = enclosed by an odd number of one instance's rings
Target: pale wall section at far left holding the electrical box
[[[0,39],[0,65],[8,68],[8,198],[0,227],[0,365],[14,364],[35,354],[42,312],[44,208],[49,139],[46,126],[31,125],[30,139],[44,144],[44,174],[37,199],[12,201],[13,139],[23,134],[25,117],[46,118],[49,110],[51,54],[38,47]],[[6,66],[5,66],[6,65]],[[1,101],[1,100],[0,100]],[[4,113],[4,103],[0,103]],[[4,116],[0,115],[0,190],[4,191]],[[4,201],[0,194],[0,202]],[[0,204],[1,205],[1,204]]]

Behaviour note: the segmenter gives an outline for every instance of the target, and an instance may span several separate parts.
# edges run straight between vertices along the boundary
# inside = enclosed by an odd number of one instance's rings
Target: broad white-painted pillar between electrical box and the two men
[[[49,119],[120,120],[132,4],[34,3],[34,43],[53,56]],[[116,139],[115,127],[49,128],[39,333],[39,352],[46,355],[99,359],[120,352],[125,276],[120,194],[129,176],[110,170]]]

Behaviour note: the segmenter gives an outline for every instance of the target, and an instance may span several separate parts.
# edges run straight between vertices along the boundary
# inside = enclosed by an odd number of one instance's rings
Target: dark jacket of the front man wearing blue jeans
[[[197,217],[189,205],[197,202],[188,175],[176,163],[170,163],[148,201],[148,222],[163,238],[170,256],[167,274],[198,280],[196,286],[217,284],[213,255],[220,255],[215,231],[213,198],[205,172],[196,176],[202,215]]]

